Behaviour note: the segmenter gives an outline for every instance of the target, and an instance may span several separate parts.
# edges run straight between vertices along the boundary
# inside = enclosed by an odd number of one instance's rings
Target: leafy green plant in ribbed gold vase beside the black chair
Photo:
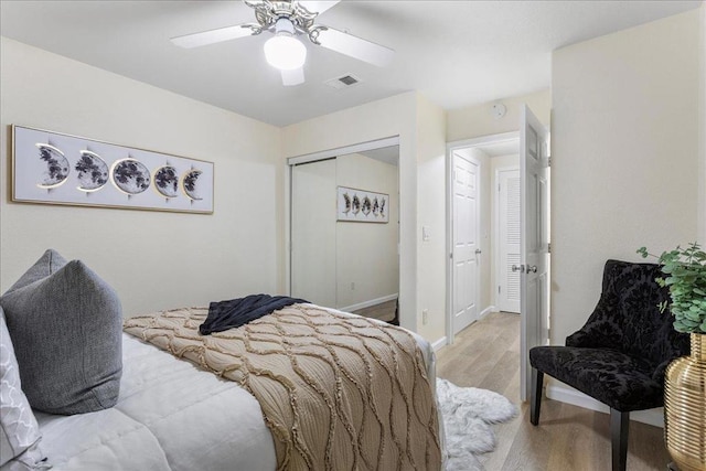
[[[642,257],[652,256],[645,247]],[[654,256],[656,257],[656,256]],[[674,329],[691,335],[689,356],[673,361],[664,375],[664,438],[681,471],[706,470],[706,253],[697,243],[657,258],[674,315]]]

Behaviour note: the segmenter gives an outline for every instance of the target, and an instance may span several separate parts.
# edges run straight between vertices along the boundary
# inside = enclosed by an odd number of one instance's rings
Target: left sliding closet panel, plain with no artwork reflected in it
[[[291,170],[291,296],[336,306],[335,159]]]

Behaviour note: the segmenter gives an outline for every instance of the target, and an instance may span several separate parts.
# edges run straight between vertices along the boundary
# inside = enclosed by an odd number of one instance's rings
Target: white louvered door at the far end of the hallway
[[[498,309],[520,313],[520,169],[498,171]]]

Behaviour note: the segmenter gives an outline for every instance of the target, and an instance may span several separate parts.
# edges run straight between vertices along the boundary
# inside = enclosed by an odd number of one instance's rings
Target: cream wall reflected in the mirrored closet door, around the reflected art
[[[338,157],[335,167],[338,186],[389,195],[388,223],[336,223],[336,307],[343,309],[399,290],[398,171],[360,153]]]

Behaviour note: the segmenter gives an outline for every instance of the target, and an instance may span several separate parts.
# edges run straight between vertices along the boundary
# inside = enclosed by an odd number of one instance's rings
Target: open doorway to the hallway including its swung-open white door
[[[491,154],[498,160],[493,162]],[[464,182],[459,179],[459,162],[463,159],[478,162],[479,178],[471,183],[474,186],[472,199],[461,197]],[[549,325],[548,131],[523,106],[518,132],[451,143],[447,162],[447,340],[453,343],[459,327],[466,327],[459,315],[466,309],[466,292],[474,293],[472,308],[478,319],[500,311],[501,304],[504,309],[515,310],[518,291],[521,399],[526,400],[530,390],[528,351],[547,342]],[[516,167],[520,168],[518,174]],[[520,224],[516,222],[517,206]],[[469,212],[479,214],[468,217]],[[498,220],[495,224],[492,223],[493,215]],[[513,216],[514,221],[511,221]],[[468,229],[469,224],[478,226]],[[474,247],[473,264],[467,264],[466,258],[459,257],[463,255],[459,249],[466,246]],[[473,268],[470,270],[472,277],[467,276],[467,265]]]

